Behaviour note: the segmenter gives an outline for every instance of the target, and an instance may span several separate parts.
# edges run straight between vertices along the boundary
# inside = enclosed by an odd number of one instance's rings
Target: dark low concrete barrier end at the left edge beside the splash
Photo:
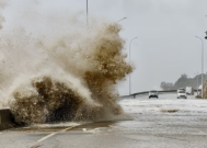
[[[0,130],[14,127],[14,122],[9,109],[0,110]]]

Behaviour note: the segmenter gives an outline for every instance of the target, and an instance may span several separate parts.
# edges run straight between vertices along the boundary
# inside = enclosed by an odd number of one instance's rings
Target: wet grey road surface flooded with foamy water
[[[88,123],[57,133],[73,123],[0,132],[0,148],[206,148],[207,101],[176,94],[122,100],[133,119]],[[37,140],[57,133],[45,140]]]

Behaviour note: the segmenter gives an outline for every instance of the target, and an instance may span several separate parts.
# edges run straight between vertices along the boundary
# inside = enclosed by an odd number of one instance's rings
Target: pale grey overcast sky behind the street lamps
[[[87,0],[39,2],[85,14]],[[182,73],[194,77],[200,72],[202,42],[194,36],[205,36],[206,5],[207,0],[89,0],[89,15],[114,22],[127,16],[119,22],[124,29],[120,35],[126,39],[126,52],[129,41],[138,36],[131,44],[131,61],[136,66],[131,92],[140,92],[159,89],[161,81],[175,82]],[[207,56],[204,71],[206,66]],[[128,79],[119,92],[128,94]]]

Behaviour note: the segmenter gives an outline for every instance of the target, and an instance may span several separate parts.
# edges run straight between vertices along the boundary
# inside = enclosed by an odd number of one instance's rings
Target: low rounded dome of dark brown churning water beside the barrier
[[[90,91],[72,77],[55,78],[42,75],[21,83],[12,91],[10,109],[18,123],[50,123],[71,119],[92,119],[85,112],[101,105],[90,98]],[[83,116],[84,114],[84,116]]]

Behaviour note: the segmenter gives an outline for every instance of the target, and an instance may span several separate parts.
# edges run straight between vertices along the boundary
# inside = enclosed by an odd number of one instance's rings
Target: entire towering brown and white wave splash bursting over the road
[[[28,21],[14,26],[7,22],[0,32],[1,104],[25,124],[122,115],[116,88],[133,67],[123,54],[120,25],[93,23],[85,29],[62,13],[53,21],[50,11],[38,16],[34,31]]]

